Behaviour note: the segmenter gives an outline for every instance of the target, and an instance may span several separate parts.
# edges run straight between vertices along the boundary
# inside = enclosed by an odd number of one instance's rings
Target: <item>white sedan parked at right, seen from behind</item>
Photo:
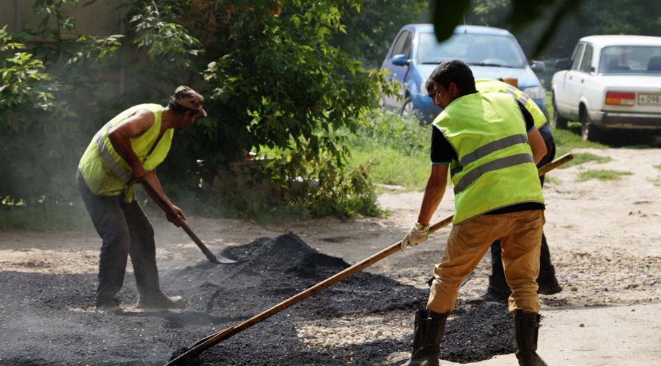
[[[553,124],[580,121],[583,140],[612,131],[661,131],[661,37],[593,35],[553,75]]]

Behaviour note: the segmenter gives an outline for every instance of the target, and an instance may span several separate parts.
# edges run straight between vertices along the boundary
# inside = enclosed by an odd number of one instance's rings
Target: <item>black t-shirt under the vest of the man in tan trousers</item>
[[[523,104],[517,101],[519,109],[523,114],[523,120],[526,125],[526,131],[530,133],[535,127],[535,120],[530,112],[523,107]],[[446,136],[437,129],[432,127],[432,149],[430,152],[430,157],[432,159],[432,165],[446,165],[450,164],[452,159],[459,160],[457,152],[452,148],[450,142],[446,139]],[[544,210],[545,206],[543,203],[518,203],[516,205],[507,206],[504,208],[498,208],[496,210],[486,212],[486,214],[506,214],[510,212],[520,212],[528,210]]]

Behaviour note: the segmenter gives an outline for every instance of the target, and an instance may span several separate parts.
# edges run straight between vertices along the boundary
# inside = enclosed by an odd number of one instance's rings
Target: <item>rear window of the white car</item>
[[[661,47],[610,46],[601,50],[601,74],[661,73]]]

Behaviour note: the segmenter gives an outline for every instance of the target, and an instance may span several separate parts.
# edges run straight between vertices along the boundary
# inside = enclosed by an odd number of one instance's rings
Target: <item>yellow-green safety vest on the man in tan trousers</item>
[[[433,125],[457,153],[450,163],[452,223],[518,203],[544,203],[525,124],[511,95],[464,95]]]

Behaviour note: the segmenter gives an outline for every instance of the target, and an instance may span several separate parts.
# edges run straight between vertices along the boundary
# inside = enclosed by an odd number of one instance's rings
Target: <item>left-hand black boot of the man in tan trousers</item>
[[[431,310],[416,311],[413,353],[401,366],[439,366],[441,339],[448,315],[450,313],[439,314]]]

